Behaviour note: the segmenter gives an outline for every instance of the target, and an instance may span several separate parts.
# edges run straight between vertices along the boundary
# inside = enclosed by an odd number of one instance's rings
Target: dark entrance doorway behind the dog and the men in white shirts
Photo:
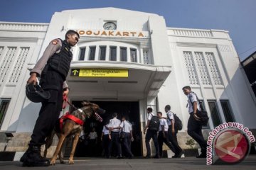
[[[122,116],[125,115],[129,118],[129,122],[132,124],[132,133],[134,136],[134,142],[132,142],[131,148],[132,153],[136,157],[142,156],[141,149],[141,139],[142,134],[140,130],[139,121],[139,102],[138,101],[92,101],[106,110],[104,115],[101,115],[103,122],[97,122],[96,120],[90,118],[86,120],[84,124],[84,137],[78,143],[78,147],[75,152],[75,157],[102,157],[102,142],[100,137],[102,135],[103,125],[107,120],[112,118],[112,113],[116,112],[118,114],[117,118],[121,120]],[[73,101],[73,105],[80,108],[81,101]],[[90,142],[87,140],[87,135],[89,135],[92,128],[95,128],[97,132],[97,143],[92,147]],[[93,152],[92,152],[93,148]],[[114,149],[114,148],[113,148]]]

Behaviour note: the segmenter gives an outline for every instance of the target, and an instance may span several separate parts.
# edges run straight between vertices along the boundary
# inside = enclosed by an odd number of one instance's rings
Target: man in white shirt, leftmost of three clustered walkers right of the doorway
[[[154,158],[160,158],[159,156],[159,144],[157,141],[157,131],[153,131],[149,129],[149,124],[150,124],[150,120],[152,118],[152,116],[154,116],[154,114],[152,113],[153,109],[152,108],[147,108],[147,113],[148,113],[148,118],[147,118],[147,122],[146,122],[146,127],[144,128],[144,134],[146,133],[146,158],[151,158],[151,149],[150,149],[150,145],[149,145],[149,141],[151,140],[151,138],[153,138],[154,141],[154,146],[156,148],[156,155]]]

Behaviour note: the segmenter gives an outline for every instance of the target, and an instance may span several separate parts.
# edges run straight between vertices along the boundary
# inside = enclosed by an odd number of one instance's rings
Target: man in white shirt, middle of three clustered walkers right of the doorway
[[[176,152],[174,149],[174,146],[169,141],[167,120],[165,118],[162,118],[162,115],[163,114],[161,112],[157,112],[157,117],[160,120],[159,135],[158,135],[160,157],[163,157],[163,144],[164,143],[171,149],[172,152],[174,152],[174,153]]]

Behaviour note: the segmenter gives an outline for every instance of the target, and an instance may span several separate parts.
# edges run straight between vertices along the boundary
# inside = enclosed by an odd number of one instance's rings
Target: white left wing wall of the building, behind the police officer
[[[0,22],[0,98],[11,99],[1,130],[17,130],[26,98],[28,64],[38,60],[47,29],[46,23]]]

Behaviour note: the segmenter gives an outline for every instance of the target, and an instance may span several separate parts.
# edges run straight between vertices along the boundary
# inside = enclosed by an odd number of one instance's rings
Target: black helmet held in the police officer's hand
[[[27,84],[26,96],[32,102],[40,103],[43,101],[47,101],[50,98],[50,92],[44,91],[38,84]]]

